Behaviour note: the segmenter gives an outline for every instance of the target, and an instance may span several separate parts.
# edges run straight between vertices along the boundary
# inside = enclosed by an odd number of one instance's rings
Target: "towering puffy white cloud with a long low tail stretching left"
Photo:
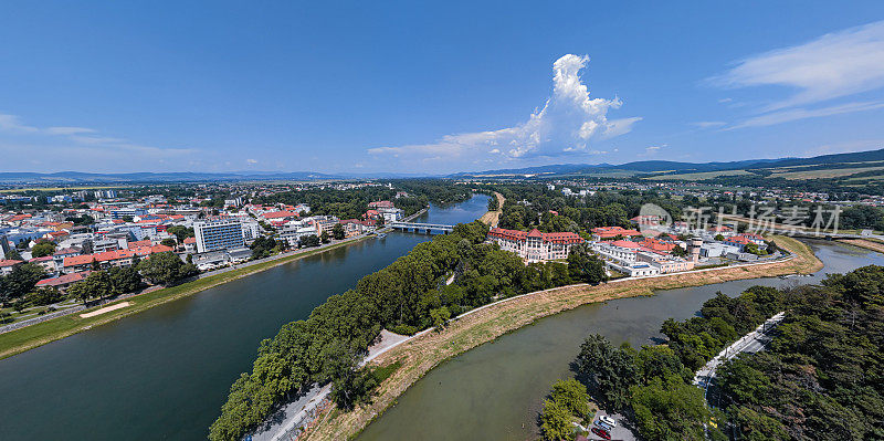
[[[580,71],[588,56],[564,55],[552,64],[552,95],[540,111],[514,127],[498,130],[446,135],[434,143],[368,149],[371,155],[389,155],[409,160],[484,160],[488,155],[515,160],[572,154],[597,154],[593,139],[629,133],[641,117],[608,119],[608,111],[622,102],[591,98]]]

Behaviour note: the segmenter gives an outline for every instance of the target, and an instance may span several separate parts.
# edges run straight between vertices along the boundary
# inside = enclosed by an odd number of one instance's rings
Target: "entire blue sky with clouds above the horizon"
[[[884,148],[880,1],[370,3],[0,6],[0,171]]]

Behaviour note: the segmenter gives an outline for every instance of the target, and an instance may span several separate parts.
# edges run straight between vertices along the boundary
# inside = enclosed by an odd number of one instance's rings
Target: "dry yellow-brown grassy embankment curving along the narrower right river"
[[[806,244],[786,237],[776,237],[775,240],[778,245],[791,251],[794,254],[793,259],[753,266],[717,267],[695,273],[628,280],[598,286],[564,286],[513,297],[462,316],[453,321],[441,333],[424,334],[375,359],[373,364],[381,367],[392,364],[401,364],[401,367],[380,385],[378,396],[375,397],[371,405],[359,407],[347,413],[332,410],[330,413],[318,419],[319,422],[307,433],[307,439],[345,440],[354,438],[392,405],[396,398],[414,381],[440,363],[491,342],[503,334],[529,325],[541,317],[593,302],[653,295],[655,290],[673,290],[782,274],[807,274],[822,267],[822,262]]]

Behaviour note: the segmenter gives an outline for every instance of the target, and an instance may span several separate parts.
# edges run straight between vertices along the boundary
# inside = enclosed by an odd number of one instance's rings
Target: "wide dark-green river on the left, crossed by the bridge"
[[[419,221],[486,210],[477,195]],[[204,440],[262,339],[429,239],[360,241],[0,360],[0,440]]]

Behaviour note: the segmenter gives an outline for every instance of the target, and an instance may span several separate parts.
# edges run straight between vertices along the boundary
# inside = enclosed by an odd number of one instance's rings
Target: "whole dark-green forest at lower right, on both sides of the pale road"
[[[706,406],[694,371],[781,311],[786,318],[766,350],[719,368]],[[697,317],[669,319],[661,332],[665,344],[639,350],[592,335],[573,363],[589,397],[627,416],[644,439],[884,438],[883,266],[832,274],[820,285],[719,293]],[[548,401],[544,437],[573,437],[564,422],[585,416],[564,412],[555,395]]]

